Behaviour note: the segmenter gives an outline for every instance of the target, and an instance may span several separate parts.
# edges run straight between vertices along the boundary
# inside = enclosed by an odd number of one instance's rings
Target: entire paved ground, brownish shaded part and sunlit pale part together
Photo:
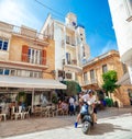
[[[58,116],[2,121],[0,137],[7,137],[6,139],[132,139],[130,112],[132,112],[131,107],[100,111],[98,124],[89,136],[82,135],[81,125],[77,129],[74,128],[75,116]]]

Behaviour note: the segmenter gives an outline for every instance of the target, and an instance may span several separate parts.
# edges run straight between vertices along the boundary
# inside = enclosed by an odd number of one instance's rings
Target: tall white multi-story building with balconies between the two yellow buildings
[[[81,65],[89,58],[89,46],[85,27],[77,23],[77,16],[68,13],[63,23],[50,14],[41,33],[55,40],[56,79],[79,81]]]

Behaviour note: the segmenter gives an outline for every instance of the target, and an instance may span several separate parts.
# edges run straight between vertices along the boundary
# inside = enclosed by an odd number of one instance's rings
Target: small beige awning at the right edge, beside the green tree
[[[127,72],[116,84],[119,84],[119,85],[130,85],[131,81],[130,81],[129,72]]]

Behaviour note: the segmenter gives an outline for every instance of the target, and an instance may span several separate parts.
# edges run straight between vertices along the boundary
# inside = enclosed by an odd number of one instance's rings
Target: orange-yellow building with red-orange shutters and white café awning
[[[19,92],[25,92],[32,109],[43,96],[50,100],[52,91],[66,89],[54,80],[54,40],[36,30],[0,22],[0,105],[16,101]]]

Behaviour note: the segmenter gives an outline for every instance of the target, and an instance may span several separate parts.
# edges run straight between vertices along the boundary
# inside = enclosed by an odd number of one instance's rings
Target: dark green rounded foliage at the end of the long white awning
[[[75,81],[63,81],[62,83],[67,85],[67,89],[63,91],[67,95],[76,95],[81,91],[80,85]]]

